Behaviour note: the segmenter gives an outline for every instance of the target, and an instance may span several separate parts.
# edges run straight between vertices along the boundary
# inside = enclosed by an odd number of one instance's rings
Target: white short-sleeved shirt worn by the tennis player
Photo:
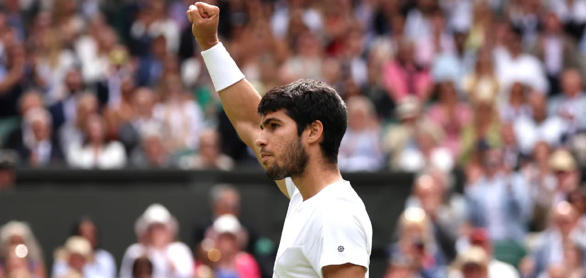
[[[322,267],[352,263],[369,277],[372,225],[348,181],[326,186],[303,201],[291,178],[291,196],[273,278],[323,278]]]

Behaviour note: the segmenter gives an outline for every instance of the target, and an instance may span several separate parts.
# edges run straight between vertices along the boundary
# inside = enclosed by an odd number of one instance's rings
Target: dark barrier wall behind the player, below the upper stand
[[[0,223],[27,221],[45,251],[47,266],[71,225],[92,217],[102,246],[120,263],[135,242],[134,222],[152,203],[165,205],[180,223],[179,237],[193,246],[197,220],[210,214],[208,190],[231,183],[242,195],[241,218],[278,244],[288,199],[258,170],[215,171],[68,171],[19,170],[16,190],[0,194]],[[413,176],[393,173],[343,174],[362,197],[373,225],[371,277],[382,277],[389,244]]]

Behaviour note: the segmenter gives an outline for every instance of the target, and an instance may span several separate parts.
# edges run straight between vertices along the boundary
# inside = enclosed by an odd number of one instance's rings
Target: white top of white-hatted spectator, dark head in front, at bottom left
[[[134,243],[128,246],[122,265],[120,267],[120,278],[132,278],[132,265],[134,260],[141,256],[147,256],[152,262],[152,278],[192,278],[193,257],[189,247],[183,242],[173,242],[167,245],[164,250],[148,248],[141,243]],[[169,263],[173,263],[175,271]]]

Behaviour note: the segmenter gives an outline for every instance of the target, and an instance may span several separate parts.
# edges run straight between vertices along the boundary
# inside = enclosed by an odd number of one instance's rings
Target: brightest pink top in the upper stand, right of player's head
[[[427,70],[413,68],[410,74],[407,68],[397,61],[387,63],[383,70],[384,87],[395,101],[400,101],[409,94],[422,99],[427,97],[426,94],[432,85],[431,74]]]

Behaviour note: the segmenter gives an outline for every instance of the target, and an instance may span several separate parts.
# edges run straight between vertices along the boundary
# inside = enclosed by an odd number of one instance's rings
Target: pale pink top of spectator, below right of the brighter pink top
[[[427,111],[428,118],[442,127],[445,138],[440,146],[451,150],[452,155],[458,157],[460,152],[460,135],[462,128],[472,120],[472,109],[462,102],[456,104],[453,118],[442,104],[434,104]]]

